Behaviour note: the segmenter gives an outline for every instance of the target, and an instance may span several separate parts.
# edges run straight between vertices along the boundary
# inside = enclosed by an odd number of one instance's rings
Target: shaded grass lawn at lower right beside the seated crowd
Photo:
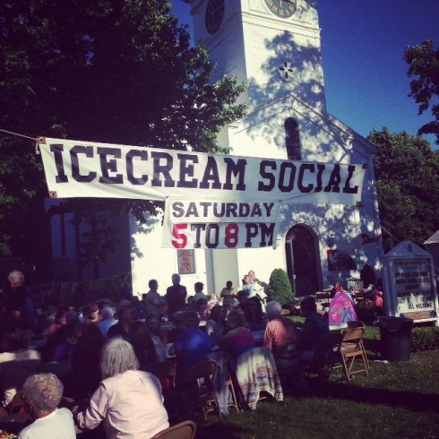
[[[260,401],[254,411],[233,413],[224,424],[199,428],[204,438],[428,438],[439,439],[439,350],[410,361],[379,360],[379,330],[366,328],[370,376],[351,384],[310,380],[281,403]]]

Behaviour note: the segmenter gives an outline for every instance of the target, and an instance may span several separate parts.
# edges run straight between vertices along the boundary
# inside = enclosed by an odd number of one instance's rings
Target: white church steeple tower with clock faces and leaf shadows
[[[223,74],[237,76],[252,107],[293,94],[325,109],[315,0],[192,0],[194,38]]]

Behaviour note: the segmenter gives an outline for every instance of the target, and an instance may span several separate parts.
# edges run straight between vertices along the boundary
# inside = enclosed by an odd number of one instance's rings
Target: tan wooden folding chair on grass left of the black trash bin
[[[364,328],[352,328],[342,334],[342,339],[337,349],[337,359],[331,366],[330,374],[334,369],[343,369],[344,375],[350,383],[354,374],[366,373],[369,376],[366,351],[362,343]],[[354,368],[354,365],[361,361],[361,366]]]

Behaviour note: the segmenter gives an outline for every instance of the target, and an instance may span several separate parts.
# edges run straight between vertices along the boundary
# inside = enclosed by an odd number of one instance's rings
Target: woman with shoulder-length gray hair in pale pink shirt
[[[147,439],[168,428],[159,379],[138,370],[132,345],[121,338],[110,339],[100,357],[103,380],[91,397],[89,407],[77,413],[82,429],[92,429],[104,421],[106,437]]]

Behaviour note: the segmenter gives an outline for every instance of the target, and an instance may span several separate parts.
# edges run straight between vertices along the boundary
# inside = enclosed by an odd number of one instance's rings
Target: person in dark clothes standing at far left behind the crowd
[[[6,321],[17,325],[20,329],[25,348],[29,346],[35,326],[35,310],[29,288],[25,285],[22,271],[13,270],[9,273],[11,284],[6,304]]]

